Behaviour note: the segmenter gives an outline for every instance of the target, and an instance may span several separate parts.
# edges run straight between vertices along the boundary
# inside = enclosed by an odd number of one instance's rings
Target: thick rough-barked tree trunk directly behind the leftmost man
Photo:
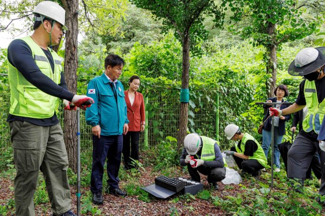
[[[78,0],[61,0],[66,9],[66,50],[64,54],[64,77],[68,90],[77,93],[78,69]],[[77,172],[77,124],[76,111],[64,110],[64,143],[69,158],[69,167]]]

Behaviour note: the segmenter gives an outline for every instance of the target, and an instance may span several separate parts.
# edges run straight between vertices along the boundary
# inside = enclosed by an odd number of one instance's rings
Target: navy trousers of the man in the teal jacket
[[[107,184],[110,189],[118,188],[118,171],[121,164],[123,136],[103,136],[99,139],[92,136],[92,169],[90,179],[90,190],[92,193],[102,191],[104,164],[107,158]]]

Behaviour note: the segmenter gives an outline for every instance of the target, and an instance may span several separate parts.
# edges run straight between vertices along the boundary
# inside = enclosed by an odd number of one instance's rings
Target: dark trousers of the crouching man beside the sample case
[[[191,167],[190,164],[187,164],[187,169],[191,179],[193,181],[201,182],[200,174],[201,172],[203,175],[208,176],[208,183],[215,184],[217,182],[222,181],[225,178],[225,167],[205,167],[203,165],[199,166],[198,168]],[[198,172],[199,171],[199,172]]]

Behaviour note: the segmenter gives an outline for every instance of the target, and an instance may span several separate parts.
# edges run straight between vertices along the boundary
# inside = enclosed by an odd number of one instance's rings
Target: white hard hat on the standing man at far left
[[[66,11],[61,6],[59,6],[54,2],[50,2],[50,1],[41,2],[35,7],[32,13],[33,14],[37,13],[49,19],[52,19],[55,22],[59,22],[60,24],[62,24],[62,29],[68,30],[68,28],[64,26],[64,22],[66,21]]]

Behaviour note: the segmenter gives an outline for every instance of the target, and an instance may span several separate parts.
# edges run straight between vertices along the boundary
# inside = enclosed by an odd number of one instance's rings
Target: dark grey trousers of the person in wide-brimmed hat
[[[325,152],[320,150],[318,141],[311,141],[301,135],[297,136],[294,144],[288,151],[288,178],[298,179],[303,186],[306,179],[306,171],[316,151],[320,157],[320,169],[322,170],[319,194],[325,195]],[[291,181],[291,185],[294,186],[294,184],[295,181]],[[297,191],[302,192],[300,189]]]

